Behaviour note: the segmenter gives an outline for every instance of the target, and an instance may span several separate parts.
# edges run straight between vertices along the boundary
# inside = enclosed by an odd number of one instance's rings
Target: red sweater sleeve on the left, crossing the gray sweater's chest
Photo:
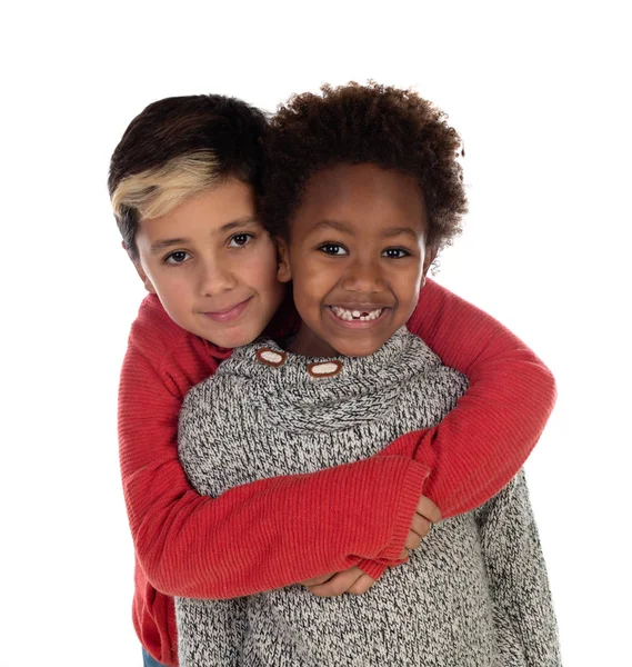
[[[128,349],[119,395],[123,492],[137,558],[167,595],[230,598],[399,556],[429,469],[372,457],[198,495],[178,459],[177,382]],[[379,502],[375,499],[379,498]]]

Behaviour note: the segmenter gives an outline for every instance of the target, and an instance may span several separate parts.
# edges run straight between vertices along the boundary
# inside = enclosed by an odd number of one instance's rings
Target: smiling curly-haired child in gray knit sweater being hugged
[[[188,394],[180,457],[200,492],[373,456],[454,407],[465,378],[404,325],[460,228],[459,145],[431,104],[375,84],[325,87],[278,112],[264,220],[301,325],[280,346],[235,350]],[[177,598],[177,614],[188,667],[560,664],[522,472],[362,597],[290,586]]]

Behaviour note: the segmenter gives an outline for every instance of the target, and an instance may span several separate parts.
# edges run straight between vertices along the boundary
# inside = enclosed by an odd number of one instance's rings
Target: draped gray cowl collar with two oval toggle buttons
[[[330,431],[373,421],[393,409],[408,380],[439,364],[439,357],[402,327],[369,357],[304,357],[261,339],[237,349],[217,375],[235,376],[231,387],[261,406],[262,418],[274,426]],[[318,366],[338,370],[310,372]]]

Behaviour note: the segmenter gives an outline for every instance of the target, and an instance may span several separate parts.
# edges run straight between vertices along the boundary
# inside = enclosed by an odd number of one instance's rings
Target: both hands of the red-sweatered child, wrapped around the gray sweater
[[[417,506],[412,524],[407,536],[404,548],[400,558],[409,557],[410,551],[417,549],[421,540],[430,532],[432,524],[441,520],[441,511],[430,498],[422,496]],[[311,593],[319,597],[335,597],[343,593],[362,595],[367,593],[375,579],[364,574],[359,567],[352,567],[341,573],[331,573],[301,581]]]

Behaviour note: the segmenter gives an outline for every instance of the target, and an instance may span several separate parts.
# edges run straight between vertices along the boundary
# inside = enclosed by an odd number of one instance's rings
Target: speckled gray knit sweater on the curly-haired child
[[[334,377],[313,377],[308,362],[321,360],[297,355],[270,366],[263,347],[281,351],[271,341],[238,349],[187,396],[180,458],[201,494],[370,457],[438,424],[467,388],[405,329],[370,357],[341,357]],[[182,667],[560,664],[522,472],[476,511],[435,526],[362,596],[319,598],[294,585],[178,598],[175,608]]]

